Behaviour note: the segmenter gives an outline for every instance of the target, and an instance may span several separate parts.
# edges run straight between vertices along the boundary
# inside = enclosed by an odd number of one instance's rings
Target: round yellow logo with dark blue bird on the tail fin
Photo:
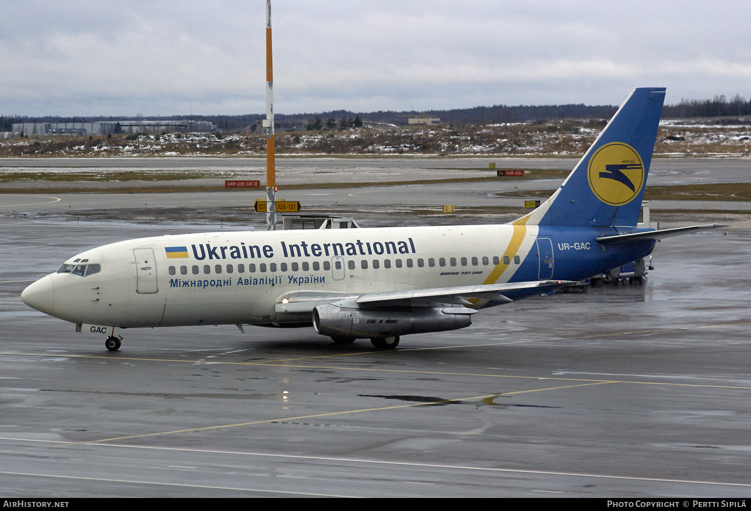
[[[630,203],[644,185],[644,163],[628,144],[605,144],[590,158],[587,172],[590,188],[599,200],[611,206]]]

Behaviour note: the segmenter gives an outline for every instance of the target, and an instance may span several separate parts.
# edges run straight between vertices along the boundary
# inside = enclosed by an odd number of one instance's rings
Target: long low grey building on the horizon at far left
[[[22,122],[13,125],[15,133],[25,135],[108,135],[154,132],[207,133],[216,131],[209,121],[102,121],[102,122]]]

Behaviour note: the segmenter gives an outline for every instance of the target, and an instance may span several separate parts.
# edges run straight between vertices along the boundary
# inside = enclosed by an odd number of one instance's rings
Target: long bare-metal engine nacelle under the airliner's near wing
[[[313,309],[313,327],[330,337],[385,338],[465,328],[472,324],[470,316],[475,312],[466,307],[401,307],[385,311],[318,305]]]

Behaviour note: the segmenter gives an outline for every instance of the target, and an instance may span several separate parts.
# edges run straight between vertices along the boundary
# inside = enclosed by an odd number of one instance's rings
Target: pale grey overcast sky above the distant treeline
[[[265,111],[264,0],[0,0],[0,114]],[[272,0],[277,113],[751,98],[751,8]]]

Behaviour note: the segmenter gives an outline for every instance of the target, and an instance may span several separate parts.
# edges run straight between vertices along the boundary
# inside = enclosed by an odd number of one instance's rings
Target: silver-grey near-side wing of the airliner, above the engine
[[[276,312],[312,312],[315,307],[324,304],[351,306],[353,308],[430,306],[436,302],[449,305],[472,305],[472,302],[469,302],[469,299],[472,298],[508,303],[572,284],[576,283],[571,281],[530,281],[361,294],[292,291],[279,296],[276,301]]]

